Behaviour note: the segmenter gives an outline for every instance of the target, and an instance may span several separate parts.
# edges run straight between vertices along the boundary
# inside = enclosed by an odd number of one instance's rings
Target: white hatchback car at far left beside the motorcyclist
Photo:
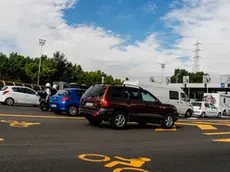
[[[0,90],[0,102],[12,106],[14,104],[38,105],[37,92],[28,87],[5,86]]]

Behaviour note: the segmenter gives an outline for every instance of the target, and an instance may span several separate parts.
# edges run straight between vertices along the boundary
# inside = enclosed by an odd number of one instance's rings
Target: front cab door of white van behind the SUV
[[[178,113],[183,114],[183,109],[180,105],[180,95],[178,91],[169,90],[169,104],[176,106]]]

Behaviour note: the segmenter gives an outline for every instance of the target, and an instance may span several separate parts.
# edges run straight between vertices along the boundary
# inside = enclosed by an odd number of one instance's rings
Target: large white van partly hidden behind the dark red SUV
[[[124,84],[138,85],[148,90],[162,103],[174,105],[180,115],[184,115],[185,117],[192,116],[192,104],[189,102],[189,98],[180,87],[169,86],[165,84],[155,84],[151,82],[148,84],[139,84],[138,81],[125,81]]]

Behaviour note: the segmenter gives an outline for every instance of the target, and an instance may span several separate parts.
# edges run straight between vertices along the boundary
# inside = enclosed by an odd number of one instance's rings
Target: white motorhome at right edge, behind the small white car
[[[214,104],[222,115],[230,115],[230,95],[223,93],[204,93],[203,101]]]

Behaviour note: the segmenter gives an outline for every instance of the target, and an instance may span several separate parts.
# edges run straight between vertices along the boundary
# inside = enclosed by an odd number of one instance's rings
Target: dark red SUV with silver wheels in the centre
[[[127,85],[91,86],[83,94],[79,110],[92,125],[107,121],[115,128],[124,128],[127,122],[172,128],[178,119],[175,106],[161,103],[141,87]]]

